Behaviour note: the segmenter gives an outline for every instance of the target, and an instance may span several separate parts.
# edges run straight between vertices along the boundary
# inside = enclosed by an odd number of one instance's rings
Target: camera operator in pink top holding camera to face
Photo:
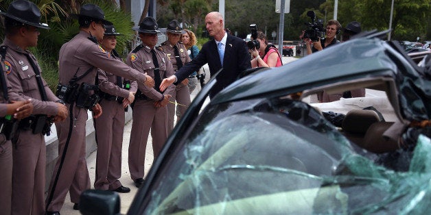
[[[255,42],[253,49],[248,47],[248,52],[253,55],[253,60],[251,60],[251,68],[258,66],[279,67],[283,65],[278,49],[274,45],[268,44],[268,39],[266,38],[264,32],[258,31],[257,38],[253,38],[252,36],[252,40],[256,40],[257,42]]]

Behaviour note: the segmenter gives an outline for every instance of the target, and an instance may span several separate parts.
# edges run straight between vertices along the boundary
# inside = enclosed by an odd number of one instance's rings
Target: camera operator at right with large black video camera
[[[329,47],[331,45],[335,45],[339,43],[336,39],[336,35],[340,33],[341,25],[336,20],[329,20],[326,24],[326,37],[323,39],[319,39],[316,42],[312,42],[310,38],[304,38],[304,42],[307,45],[307,54],[314,53],[316,51],[321,51],[322,49],[325,49],[326,47]],[[303,34],[300,36],[302,39],[304,36]],[[313,46],[312,46],[313,45]]]

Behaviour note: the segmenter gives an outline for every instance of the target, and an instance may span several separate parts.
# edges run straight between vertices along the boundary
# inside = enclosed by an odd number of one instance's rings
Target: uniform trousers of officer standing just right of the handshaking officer
[[[103,114],[95,119],[97,141],[94,188],[115,190],[121,186],[121,147],[124,133],[124,108],[115,100],[100,102]]]

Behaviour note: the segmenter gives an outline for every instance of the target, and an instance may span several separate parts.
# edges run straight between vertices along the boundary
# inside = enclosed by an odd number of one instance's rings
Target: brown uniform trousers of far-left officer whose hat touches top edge
[[[12,214],[45,214],[45,138],[31,130],[18,132],[12,148]]]

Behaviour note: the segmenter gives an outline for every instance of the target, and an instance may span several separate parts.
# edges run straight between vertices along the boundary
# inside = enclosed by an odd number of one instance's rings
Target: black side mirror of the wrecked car
[[[85,190],[80,196],[80,212],[83,215],[120,214],[119,195],[110,190]]]

